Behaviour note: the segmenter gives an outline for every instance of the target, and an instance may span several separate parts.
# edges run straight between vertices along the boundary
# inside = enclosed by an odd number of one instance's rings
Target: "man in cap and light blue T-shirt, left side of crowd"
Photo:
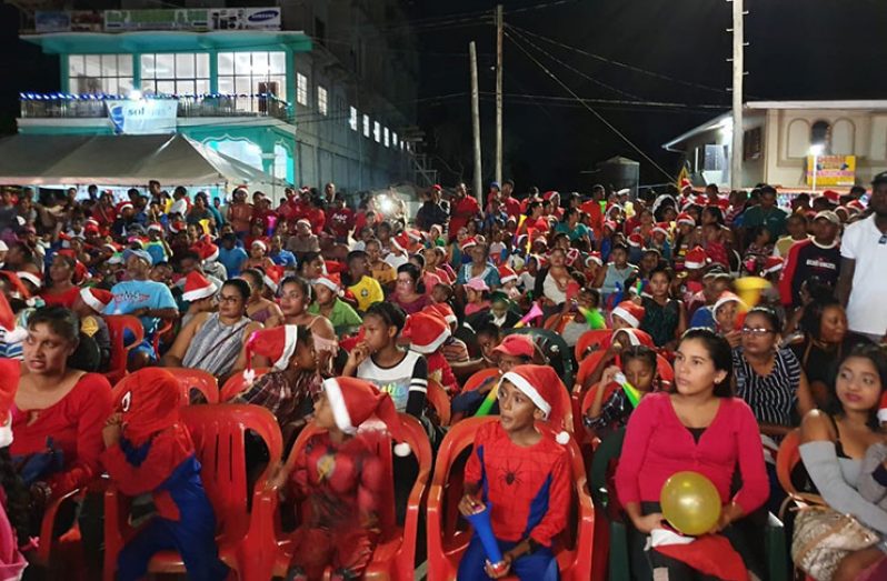
[[[129,280],[113,286],[113,300],[104,309],[104,314],[131,314],[141,320],[144,341],[130,351],[129,358],[129,370],[134,371],[157,359],[151,342],[153,333],[161,320],[178,319],[179,311],[169,287],[148,279],[151,254],[144,250],[127,250],[123,260]]]

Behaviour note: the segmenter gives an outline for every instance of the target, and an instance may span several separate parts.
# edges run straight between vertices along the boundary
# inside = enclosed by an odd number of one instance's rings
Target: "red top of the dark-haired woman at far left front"
[[[62,472],[49,484],[56,494],[89,482],[101,473],[104,449],[101,429],[111,414],[111,384],[99,373],[86,373],[61,400],[44,410],[12,410],[12,455],[46,452],[49,440],[61,451]],[[29,423],[30,422],[30,423]]]

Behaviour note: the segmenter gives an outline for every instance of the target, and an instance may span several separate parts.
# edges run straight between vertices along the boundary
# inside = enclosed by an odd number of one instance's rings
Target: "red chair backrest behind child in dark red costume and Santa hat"
[[[431,473],[431,444],[428,442],[428,435],[426,435],[425,429],[418,422],[418,420],[416,420],[416,418],[406,413],[398,413],[398,417],[400,418],[400,428],[403,432],[406,442],[409,444],[410,452],[416,457],[416,461],[419,464],[419,472],[416,477],[416,483],[413,484],[413,492],[416,491],[417,485],[420,487],[423,492],[425,487],[428,483],[428,478]],[[296,442],[292,444],[292,450],[290,450],[290,453],[287,457],[287,470],[291,470],[296,463],[296,459],[305,452],[305,447],[308,443],[308,440],[311,437],[322,432],[323,430],[318,428],[315,422],[309,422],[308,425],[305,427],[305,429],[299,433],[299,437],[296,439]],[[382,470],[385,474],[383,481],[391,482],[390,487],[385,487],[382,489],[381,498],[379,499],[380,530],[382,532],[382,540],[385,541],[391,539],[397,532],[393,485],[395,471],[393,454],[391,453],[391,439],[388,438],[387,433],[383,431],[378,432],[378,434],[382,437],[370,439],[369,441],[376,445],[375,452],[382,462]],[[410,494],[410,497],[412,497],[412,494]],[[410,500],[413,499],[411,498]],[[415,500],[417,502],[421,501],[421,499]]]

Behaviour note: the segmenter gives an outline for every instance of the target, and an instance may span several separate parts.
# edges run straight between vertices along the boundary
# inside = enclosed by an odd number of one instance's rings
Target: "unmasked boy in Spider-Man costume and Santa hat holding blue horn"
[[[569,434],[560,431],[567,388],[549,367],[517,365],[502,375],[498,389],[499,421],[481,427],[475,437],[459,511],[469,515],[489,508],[502,563],[487,560],[476,533],[458,579],[516,574],[522,581],[556,580],[552,543],[567,524],[570,505],[570,459],[564,447]],[[537,420],[548,420],[552,429],[540,429]]]

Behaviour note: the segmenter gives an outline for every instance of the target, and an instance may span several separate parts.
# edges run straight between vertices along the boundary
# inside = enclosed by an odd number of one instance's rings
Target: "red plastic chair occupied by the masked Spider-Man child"
[[[259,507],[276,500],[277,492],[267,490],[271,472],[280,463],[283,442],[275,417],[259,405],[188,405],[181,409],[182,421],[191,432],[200,478],[212,508],[219,534],[219,555],[243,581],[267,581],[261,574],[261,548],[272,535],[270,521],[257,518]],[[269,462],[252,489],[247,473],[245,438],[247,430],[257,433],[268,447]],[[248,498],[252,497],[252,511]],[[275,497],[275,499],[271,499]],[[128,524],[124,497],[113,482],[104,493],[104,579],[111,581],[117,571],[117,555],[126,540],[134,534]],[[149,573],[181,574],[185,563],[176,551],[157,553],[148,565]]]

